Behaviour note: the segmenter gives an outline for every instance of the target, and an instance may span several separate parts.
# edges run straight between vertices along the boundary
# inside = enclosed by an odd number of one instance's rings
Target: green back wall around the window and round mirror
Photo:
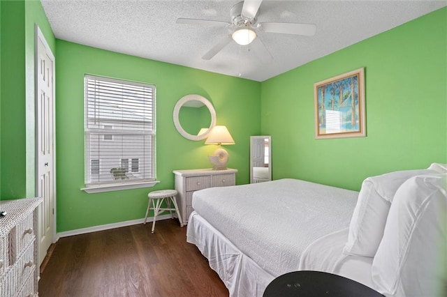
[[[226,146],[237,183],[249,182],[249,136],[260,131],[261,84],[159,61],[57,40],[57,231],[144,218],[147,192],[174,187],[175,169],[210,168],[217,146],[185,139],[173,123],[177,100],[191,93],[212,102],[217,124],[235,145]],[[87,194],[84,187],[84,75],[156,85],[156,178],[154,188]]]

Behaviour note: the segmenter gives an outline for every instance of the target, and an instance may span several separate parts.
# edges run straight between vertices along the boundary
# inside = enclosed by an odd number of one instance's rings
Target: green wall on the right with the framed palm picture
[[[447,8],[261,84],[274,179],[360,190],[367,176],[447,162]],[[365,67],[367,137],[314,139],[314,83]]]

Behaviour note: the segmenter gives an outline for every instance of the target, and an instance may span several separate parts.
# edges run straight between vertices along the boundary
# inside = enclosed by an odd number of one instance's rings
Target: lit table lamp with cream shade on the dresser
[[[208,136],[205,144],[218,144],[219,148],[214,151],[213,155],[209,155],[208,159],[212,163],[213,170],[223,170],[226,169],[226,163],[228,162],[228,152],[224,150],[221,146],[222,144],[235,144],[233,137],[231,137],[230,132],[224,125],[216,125],[212,128],[210,136]]]

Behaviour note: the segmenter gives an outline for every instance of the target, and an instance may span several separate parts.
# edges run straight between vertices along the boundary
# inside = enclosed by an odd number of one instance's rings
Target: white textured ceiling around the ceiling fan
[[[177,17],[230,22],[230,8],[237,0],[41,2],[59,39],[260,82],[447,6],[447,1],[427,0],[265,0],[258,22],[316,24],[316,34],[310,37],[258,31],[273,57],[265,63],[256,49],[234,42],[205,61],[203,54],[228,29],[175,22]]]

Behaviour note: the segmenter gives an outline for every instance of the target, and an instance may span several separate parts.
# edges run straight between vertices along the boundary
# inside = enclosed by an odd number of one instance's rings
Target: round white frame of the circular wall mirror
[[[186,104],[186,102],[189,101],[200,101],[203,103],[203,105],[205,105],[206,107],[208,107],[208,110],[210,111],[211,114],[211,123],[210,123],[210,127],[208,128],[208,130],[200,135],[191,135],[188,132],[186,132],[184,130],[184,128],[182,127],[182,124],[179,121],[179,112],[180,112],[180,108]],[[174,118],[174,125],[175,128],[177,129],[177,131],[180,133],[180,135],[182,135],[184,138],[189,139],[189,140],[194,140],[194,141],[199,141],[199,140],[203,140],[205,138],[208,137],[208,135],[211,132],[211,128],[214,127],[214,125],[216,125],[216,110],[214,110],[214,107],[212,106],[211,102],[209,100],[207,100],[207,98],[197,95],[197,94],[189,94],[186,96],[183,96],[182,98],[180,98],[180,100],[177,102],[177,104],[174,107],[174,113],[173,113],[173,118]]]

